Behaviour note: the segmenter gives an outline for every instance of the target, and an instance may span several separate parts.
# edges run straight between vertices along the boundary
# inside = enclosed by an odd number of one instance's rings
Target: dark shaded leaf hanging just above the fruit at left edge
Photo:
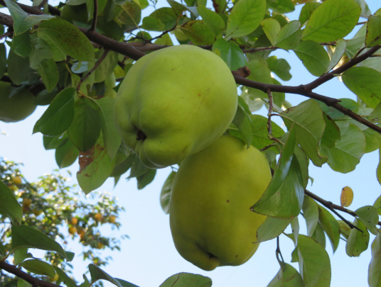
[[[18,56],[13,49],[9,50],[8,55],[8,76],[16,85],[21,85],[23,81],[28,80],[29,74],[29,58]]]

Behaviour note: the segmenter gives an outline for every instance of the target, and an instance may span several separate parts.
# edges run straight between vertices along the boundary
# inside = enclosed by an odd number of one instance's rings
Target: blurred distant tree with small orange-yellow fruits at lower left
[[[20,264],[34,274],[51,275],[45,271],[45,273],[38,270],[33,271],[28,268],[27,264],[32,264],[32,266],[41,264],[48,270],[53,268],[51,266],[55,266],[69,274],[72,272],[73,266],[65,261],[66,255],[62,252],[52,252],[50,247],[42,248],[42,244],[41,249],[47,250],[43,256],[44,261],[36,261],[38,259],[28,252],[28,246],[22,244],[25,238],[16,237],[16,240],[21,242],[20,247],[17,247],[14,243],[16,235],[12,230],[14,225],[19,223],[23,225],[17,227],[23,228],[21,232],[26,232],[23,237],[28,237],[29,232],[38,232],[36,234],[43,232],[45,236],[54,238],[65,247],[68,245],[68,236],[73,237],[73,240],[78,240],[84,247],[83,259],[90,259],[97,266],[107,264],[110,259],[109,257],[102,258],[97,249],[119,250],[120,240],[116,237],[102,235],[99,228],[100,225],[113,221],[112,228],[119,229],[121,224],[115,222],[114,219],[124,208],[117,205],[116,198],[107,193],[96,193],[97,202],[94,201],[94,204],[90,204],[88,199],[86,202],[80,201],[79,199],[83,196],[78,188],[68,185],[69,179],[61,174],[45,174],[38,181],[29,183],[23,178],[19,164],[4,160],[0,165],[0,179],[0,257],[11,255],[14,264]],[[9,201],[7,196],[13,196],[16,201]],[[91,198],[94,199],[95,196],[91,196]],[[9,203],[11,204],[9,205]],[[33,227],[33,231],[31,227]],[[68,235],[65,232],[68,227],[75,227],[77,234]],[[126,236],[123,235],[122,238],[124,237]],[[24,264],[26,259],[28,263]],[[45,270],[45,267],[41,267],[41,270]],[[54,275],[51,277],[54,278]],[[1,286],[14,286],[15,282],[17,282],[16,279],[9,276],[0,278]]]

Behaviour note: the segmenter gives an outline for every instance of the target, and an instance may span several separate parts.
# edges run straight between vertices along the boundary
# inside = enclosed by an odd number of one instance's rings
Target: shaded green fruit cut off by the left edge
[[[27,118],[36,110],[35,97],[28,88],[11,94],[11,84],[0,81],[0,120],[6,123],[15,123]]]

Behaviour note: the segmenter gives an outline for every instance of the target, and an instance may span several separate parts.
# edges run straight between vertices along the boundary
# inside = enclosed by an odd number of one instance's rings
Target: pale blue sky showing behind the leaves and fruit
[[[24,3],[24,2],[23,2]],[[25,1],[31,4],[30,1]],[[211,1],[208,1],[210,6]],[[159,4],[166,4],[159,0]],[[374,13],[381,7],[378,0],[368,0],[367,4]],[[166,5],[167,6],[167,5]],[[301,6],[297,7],[294,13],[287,14],[291,20],[299,17]],[[0,10],[4,12],[4,9]],[[149,9],[144,10],[144,16],[149,15]],[[291,65],[292,79],[282,82],[287,85],[307,84],[316,79],[307,72],[301,61],[294,52],[277,50],[272,55],[284,58]],[[338,79],[333,79],[315,90],[319,94],[334,98],[355,99],[352,94]],[[293,105],[305,101],[304,96],[287,94],[286,100]],[[42,135],[32,135],[33,125],[40,118],[46,107],[38,107],[32,116],[20,123],[0,122],[0,131],[7,135],[0,135],[0,155],[7,159],[23,162],[23,173],[29,181],[35,180],[42,174],[49,173],[58,168],[55,164],[54,151],[45,151],[42,144]],[[264,109],[259,111],[262,115]],[[355,210],[361,206],[371,205],[380,196],[381,188],[378,184],[375,170],[379,161],[378,151],[365,154],[355,171],[350,174],[340,174],[332,171],[328,165],[322,168],[310,165],[310,176],[314,182],[308,184],[308,190],[318,194],[328,201],[340,203],[340,191],[343,186],[350,186],[355,193],[350,209]],[[73,175],[78,170],[77,162],[68,169],[61,172],[67,175],[70,170]],[[161,169],[157,172],[152,184],[138,191],[136,180],[127,181],[121,179],[115,189],[113,180],[108,179],[100,188],[101,191],[110,191],[113,196],[119,198],[119,204],[126,208],[126,212],[121,214],[118,220],[122,223],[119,234],[129,235],[129,240],[124,240],[121,244],[121,252],[111,252],[104,254],[113,257],[113,261],[104,268],[110,275],[123,278],[141,287],[159,286],[168,276],[181,271],[203,274],[213,279],[213,286],[255,286],[265,287],[277,274],[279,264],[275,257],[276,241],[264,242],[252,259],[246,264],[238,267],[220,267],[215,271],[202,271],[184,260],[176,251],[169,229],[168,215],[161,210],[159,195],[161,186],[171,169]],[[127,176],[124,176],[127,177]],[[76,182],[75,176],[72,179]],[[348,215],[345,218],[352,220]],[[306,232],[306,224],[303,218],[299,217],[301,232]],[[116,234],[117,231],[111,231]],[[371,235],[371,240],[374,238]],[[77,237],[78,240],[78,237]],[[73,252],[80,253],[80,245],[77,241],[69,240],[69,247]],[[294,244],[285,236],[280,237],[281,252],[286,262],[291,260],[291,252]],[[338,250],[332,254],[327,239],[327,250],[331,258],[332,283],[331,286],[367,286],[367,267],[370,262],[370,247],[359,258],[350,258],[345,254],[345,242],[340,241]],[[33,252],[34,254],[34,252]],[[87,270],[87,264],[82,259],[77,258],[73,262],[75,265],[74,274],[77,279]],[[294,264],[297,267],[297,264]],[[105,286],[112,286],[106,283]]]

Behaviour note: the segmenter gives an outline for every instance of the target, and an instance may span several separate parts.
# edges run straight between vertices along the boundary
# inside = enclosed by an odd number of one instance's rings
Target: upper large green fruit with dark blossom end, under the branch
[[[146,167],[178,164],[218,139],[237,111],[237,87],[220,57],[191,45],[138,60],[124,78],[115,120]]]

